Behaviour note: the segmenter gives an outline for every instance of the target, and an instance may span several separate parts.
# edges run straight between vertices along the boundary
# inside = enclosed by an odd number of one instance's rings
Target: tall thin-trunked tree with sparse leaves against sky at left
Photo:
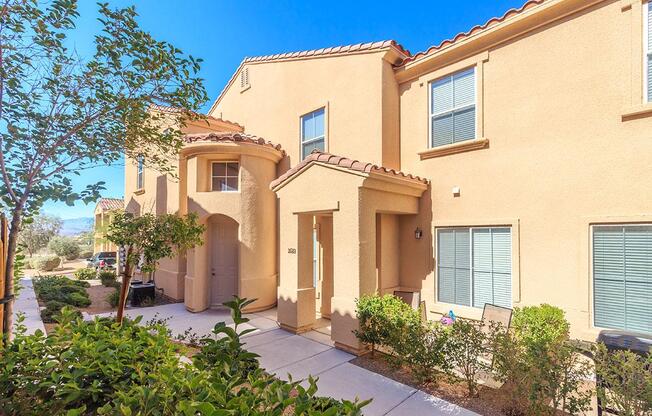
[[[100,3],[99,13],[94,53],[81,57],[66,46],[79,18],[76,0],[0,4],[0,210],[11,218],[8,276],[23,218],[48,200],[72,205],[99,197],[103,182],[74,189],[72,174],[124,155],[170,172],[184,120],[199,118],[195,111],[207,98],[201,61],[140,28],[134,7]],[[157,105],[182,110],[153,111]],[[6,306],[4,328],[11,331],[12,303]]]

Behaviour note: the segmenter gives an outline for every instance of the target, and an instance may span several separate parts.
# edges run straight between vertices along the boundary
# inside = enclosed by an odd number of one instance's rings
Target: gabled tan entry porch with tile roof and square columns
[[[330,319],[335,346],[361,353],[355,300],[402,286],[401,247],[414,239],[426,180],[313,153],[272,182],[279,199],[278,321],[301,333]]]

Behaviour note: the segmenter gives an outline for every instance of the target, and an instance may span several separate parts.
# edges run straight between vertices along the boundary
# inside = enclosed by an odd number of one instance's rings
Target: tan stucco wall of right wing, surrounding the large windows
[[[433,229],[508,224],[520,253],[514,306],[563,307],[574,335],[594,337],[589,224],[652,214],[644,156],[652,152],[652,118],[621,117],[640,88],[630,75],[638,56],[631,33],[640,33],[631,13],[640,2],[629,11],[622,3],[602,2],[488,51],[479,98],[486,149],[420,160],[428,82],[445,68],[401,85],[401,167],[432,180],[420,217],[402,221],[402,252],[412,254],[402,256],[401,276],[424,289],[428,310],[449,308],[434,304],[434,264],[424,260],[435,250]],[[411,234],[417,225],[426,230],[420,241]]]

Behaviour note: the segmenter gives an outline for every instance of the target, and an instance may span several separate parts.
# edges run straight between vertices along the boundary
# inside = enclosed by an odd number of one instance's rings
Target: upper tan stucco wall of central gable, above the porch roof
[[[382,150],[383,141],[398,148],[397,96],[380,88],[395,83],[386,53],[246,64],[251,87],[241,92],[236,80],[211,115],[237,120],[248,133],[281,144],[295,165],[300,117],[325,107],[326,151],[394,167],[397,153]]]

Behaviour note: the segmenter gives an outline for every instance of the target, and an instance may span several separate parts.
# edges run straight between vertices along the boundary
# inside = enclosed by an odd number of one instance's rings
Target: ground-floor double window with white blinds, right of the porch
[[[437,229],[437,300],[511,307],[511,228]]]

